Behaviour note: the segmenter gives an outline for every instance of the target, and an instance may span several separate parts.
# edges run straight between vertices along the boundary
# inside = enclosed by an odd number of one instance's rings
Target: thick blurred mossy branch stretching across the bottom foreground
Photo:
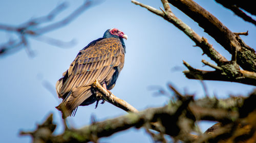
[[[177,94],[176,89],[174,92]],[[254,132],[256,129],[254,122],[256,120],[256,105],[254,104],[256,90],[248,98],[206,97],[194,100],[191,95],[180,95],[180,97],[163,107],[131,112],[125,116],[95,122],[80,129],[66,128],[58,135],[53,134],[56,125],[52,122],[52,115],[50,115],[44,123],[37,125],[35,131],[22,131],[20,134],[31,135],[33,142],[97,142],[101,137],[110,136],[131,127],[142,127],[148,130],[151,129],[152,122],[158,122],[158,132],[153,133],[150,130],[148,132],[155,140],[162,140],[160,142],[166,141],[161,134],[167,134],[175,140],[184,142],[212,142],[212,140],[233,142],[234,140],[251,140],[256,135]],[[219,121],[220,123],[201,134],[195,129],[195,122],[201,120]],[[198,134],[190,135],[191,132]]]

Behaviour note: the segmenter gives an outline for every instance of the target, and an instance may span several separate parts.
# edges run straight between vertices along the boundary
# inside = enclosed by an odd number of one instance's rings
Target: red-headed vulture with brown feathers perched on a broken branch
[[[98,103],[97,92],[92,87],[96,79],[106,90],[114,88],[124,64],[123,38],[127,36],[112,28],[79,51],[56,83],[58,97],[63,99],[56,108],[65,113],[63,117],[75,115],[78,106]]]

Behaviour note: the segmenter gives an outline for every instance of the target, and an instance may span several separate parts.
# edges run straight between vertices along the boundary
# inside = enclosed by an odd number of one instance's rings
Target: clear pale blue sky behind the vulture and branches
[[[44,16],[64,1],[0,1],[0,23],[18,25],[32,17]],[[70,14],[83,1],[67,1],[69,8],[62,12],[54,21]],[[139,2],[155,8],[162,7],[161,1]],[[256,28],[248,22],[234,15],[231,11],[216,4],[215,1],[196,1],[210,13],[215,15],[232,32],[249,31],[248,36],[241,38],[252,48],[256,47]],[[222,55],[230,59],[230,54],[214,39],[210,38],[196,22],[175,7],[171,7],[178,18],[187,23],[200,36],[206,37]],[[31,58],[26,50],[21,49],[13,54],[0,57],[0,142],[30,142],[31,138],[20,137],[20,130],[33,130],[36,123],[41,123],[54,113],[54,122],[58,124],[56,134],[63,129],[61,114],[55,109],[61,100],[57,99],[44,85],[50,83],[55,88],[56,81],[69,68],[80,49],[89,42],[100,38],[108,28],[116,27],[128,35],[126,45],[125,64],[117,80],[113,94],[129,102],[139,110],[148,107],[159,107],[167,104],[168,98],[156,96],[157,88],[168,91],[166,84],[172,82],[182,93],[196,94],[196,98],[204,97],[202,85],[198,80],[185,78],[182,71],[186,68],[182,60],[191,66],[202,67],[201,60],[214,63],[202,55],[202,50],[193,47],[191,41],[173,24],[161,17],[131,3],[130,0],[102,1],[91,7],[70,24],[47,33],[45,36],[62,41],[75,39],[76,45],[70,48],[59,48],[30,39],[30,47],[35,53]],[[12,33],[0,31],[0,43],[16,38]],[[172,70],[179,67],[178,70]],[[246,95],[254,88],[240,83],[205,81],[210,96],[219,98],[233,95]],[[90,124],[91,116],[96,121],[103,121],[125,115],[126,112],[109,104],[95,104],[79,107],[76,116],[69,118],[71,126],[79,128]],[[200,124],[205,131],[211,124]],[[111,137],[100,139],[102,142],[152,142],[143,129],[129,129],[116,133]]]

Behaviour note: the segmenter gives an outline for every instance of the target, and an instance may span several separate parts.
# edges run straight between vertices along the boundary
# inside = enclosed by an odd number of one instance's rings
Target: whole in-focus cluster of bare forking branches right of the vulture
[[[211,15],[209,12],[207,12],[205,9],[203,9],[191,0],[161,1],[164,6],[164,10],[160,8],[162,11],[141,4],[137,1],[132,1],[132,3],[140,5],[141,7],[144,7],[150,10],[151,12],[163,17],[170,23],[173,23],[182,32],[184,32],[191,40],[193,40],[196,43],[196,45],[199,46],[207,56],[209,56],[211,60],[217,63],[217,66],[215,66],[213,64],[210,64],[209,62],[206,62],[205,60],[202,60],[202,62],[205,65],[208,65],[216,69],[216,71],[202,71],[194,69],[184,62],[184,65],[189,69],[189,71],[184,71],[185,75],[188,78],[200,80],[232,81],[255,85],[256,73],[249,71],[254,71],[254,67],[256,67],[256,54],[255,51],[252,48],[248,47],[239,37],[239,35],[247,35],[248,32],[232,33],[216,17]],[[169,3],[178,7],[189,17],[193,18],[196,22],[199,23],[201,27],[205,29],[206,33],[215,38],[217,42],[222,44],[223,47],[232,54],[231,61],[226,60],[218,51],[216,51],[212,47],[212,45],[210,45],[207,42],[205,38],[201,38],[189,26],[187,26],[180,19],[178,19],[170,10]],[[244,69],[248,69],[249,71],[240,70],[239,66],[243,67]]]

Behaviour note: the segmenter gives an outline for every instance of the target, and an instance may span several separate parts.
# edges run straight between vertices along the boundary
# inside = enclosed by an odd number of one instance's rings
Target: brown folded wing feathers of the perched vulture
[[[110,82],[114,67],[122,69],[124,49],[119,39],[106,38],[80,50],[70,68],[56,83],[58,96],[68,110],[73,111],[91,93],[91,84],[97,79],[101,84]]]

